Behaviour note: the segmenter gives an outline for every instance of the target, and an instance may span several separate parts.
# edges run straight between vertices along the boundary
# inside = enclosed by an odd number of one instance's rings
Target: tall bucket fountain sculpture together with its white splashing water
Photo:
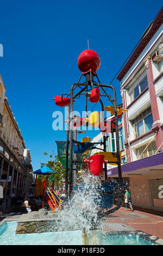
[[[118,138],[118,114],[122,111],[126,111],[126,109],[122,109],[121,107],[117,106],[116,101],[116,90],[114,87],[108,84],[101,84],[99,78],[97,76],[97,70],[101,65],[101,60],[98,54],[92,50],[85,50],[83,51],[78,57],[78,68],[82,71],[82,75],[79,78],[77,83],[72,84],[70,93],[62,94],[61,99],[67,99],[70,96],[69,103],[67,104],[68,109],[68,120],[67,121],[67,136],[66,136],[66,203],[71,208],[72,212],[78,212],[78,217],[81,220],[84,220],[83,223],[83,237],[86,237],[86,232],[89,230],[97,230],[99,228],[99,222],[102,218],[108,216],[112,212],[120,209],[122,202],[123,202],[123,190],[122,190],[122,174],[121,174],[121,157],[120,157],[120,147],[119,147],[119,138]],[[85,82],[80,83],[82,76],[85,77]],[[94,77],[97,78],[96,82]],[[113,93],[113,99],[111,96],[106,93],[106,89],[111,89]],[[101,94],[100,90],[103,91]],[[65,96],[66,97],[63,97]],[[87,112],[87,97],[89,97],[89,101],[96,103],[101,103],[102,109],[102,120],[100,119],[99,112],[93,112],[90,117],[86,115],[85,118],[79,119],[75,118],[73,115],[73,103],[76,101],[80,96],[84,95],[86,97],[86,112]],[[105,120],[104,115],[104,105],[102,101],[102,97],[108,97],[108,100],[112,103],[111,113],[114,114],[114,122],[111,124],[107,123]],[[55,96],[56,98],[56,96]],[[65,105],[64,105],[65,106]],[[106,109],[108,111],[108,109]],[[90,142],[78,142],[76,138],[73,138],[73,128],[74,123],[78,123],[79,126],[84,124],[92,125],[94,127],[100,127],[101,131],[103,132],[103,141],[101,143],[90,143]],[[82,123],[83,122],[83,123]],[[73,159],[73,151],[76,154],[81,154],[86,150],[90,150],[93,148],[97,148],[98,144],[103,145],[103,151],[106,153],[106,139],[108,138],[108,132],[115,132],[116,133],[116,153],[114,160],[107,159],[104,160],[104,155],[99,153],[98,155],[93,155],[89,157],[89,159],[85,159],[80,163],[88,164],[92,182],[83,182],[83,184],[76,184],[76,166],[79,161],[74,158]],[[84,144],[85,143],[85,144]],[[94,147],[96,145],[96,147]],[[98,149],[98,148],[97,148]],[[70,154],[69,154],[70,150]],[[117,164],[118,166],[118,179],[119,179],[119,193],[120,199],[118,205],[112,208],[113,205],[113,193],[114,187],[111,182],[107,181],[107,166],[106,164]],[[70,166],[70,167],[69,167]],[[103,168],[104,166],[104,168]],[[102,175],[104,171],[105,176],[105,183],[100,184],[98,178]],[[68,174],[69,174],[69,188],[68,188]],[[89,176],[88,175],[88,176]],[[96,182],[95,182],[96,179]],[[98,182],[97,182],[98,180]],[[97,184],[96,184],[97,183]],[[96,185],[95,185],[96,184]],[[91,193],[90,193],[91,191]],[[94,193],[93,193],[94,191]],[[96,192],[95,192],[96,191]],[[93,195],[93,196],[92,196]],[[77,198],[77,201],[76,199]],[[81,201],[80,201],[81,199]],[[73,209],[73,203],[80,201],[80,204],[84,204],[82,210]],[[87,205],[87,200],[89,204]],[[76,208],[76,205],[74,205]],[[90,209],[91,208],[91,209]],[[107,209],[107,210],[105,210]],[[74,210],[74,211],[73,211]],[[68,217],[68,216],[67,216]],[[66,220],[65,216],[64,219]],[[89,223],[89,224],[88,224]],[[72,223],[71,223],[72,224]],[[89,227],[89,228],[88,228]],[[86,230],[87,229],[87,230]],[[89,230],[88,230],[89,229]],[[86,241],[86,240],[85,240]]]

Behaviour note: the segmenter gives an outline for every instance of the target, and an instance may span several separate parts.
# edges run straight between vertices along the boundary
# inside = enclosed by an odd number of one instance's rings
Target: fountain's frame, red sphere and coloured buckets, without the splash
[[[107,181],[107,163],[117,164],[118,167],[118,179],[119,179],[119,188],[120,188],[120,202],[118,205],[105,213],[103,209],[111,208],[110,203],[108,206],[101,207],[102,210],[99,211],[99,218],[107,216],[112,212],[118,210],[123,202],[123,191],[122,191],[122,174],[121,174],[121,155],[118,139],[118,118],[121,116],[122,111],[127,111],[127,109],[122,109],[122,107],[117,106],[116,100],[116,90],[114,87],[108,84],[101,84],[97,76],[97,70],[101,65],[101,60],[98,54],[92,50],[83,51],[78,57],[78,68],[82,71],[79,81],[73,83],[71,86],[70,93],[62,94],[61,96],[55,96],[54,100],[57,106],[65,107],[67,106],[67,136],[66,136],[66,198],[71,198],[73,190],[76,188],[76,165],[78,163],[88,164],[90,172],[92,175],[101,176],[104,172],[105,184],[103,184],[104,192],[103,195],[107,196],[113,194],[113,190],[105,190],[105,187],[108,186],[109,182]],[[85,82],[80,83],[82,76],[85,77]],[[94,77],[97,78],[96,82]],[[113,93],[113,99],[111,96],[106,93],[106,89],[111,89]],[[103,94],[101,94],[101,90]],[[87,98],[92,103],[101,103],[102,119],[100,119],[100,113],[98,111],[92,112],[88,117],[85,118],[74,117],[73,115],[73,105],[74,102],[79,99],[80,96],[84,95],[86,97],[86,113],[87,113]],[[108,100],[112,103],[112,106],[104,107],[102,97],[108,97]],[[105,111],[109,111],[113,116],[110,123],[105,120]],[[99,127],[101,132],[103,132],[103,141],[102,142],[93,142],[90,140],[83,140],[82,142],[76,141],[76,138],[73,138],[73,129],[78,126],[88,126]],[[106,139],[108,138],[108,132],[116,133],[116,152],[108,153],[106,152]],[[76,157],[73,158],[73,154],[84,154],[87,151],[97,148],[97,145],[103,145],[103,152],[98,152],[88,159],[85,158],[83,161],[78,161]],[[102,150],[102,149],[101,149]],[[69,152],[70,151],[70,154]],[[103,169],[104,166],[104,169]],[[68,173],[69,173],[69,188],[68,188]],[[104,197],[103,197],[104,199]]]

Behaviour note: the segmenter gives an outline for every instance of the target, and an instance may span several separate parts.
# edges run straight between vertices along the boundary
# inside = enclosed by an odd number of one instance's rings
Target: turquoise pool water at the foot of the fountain
[[[0,227],[0,245],[83,245],[82,230],[34,234],[15,234],[17,221],[4,222]],[[101,245],[156,245],[134,234],[102,234]]]

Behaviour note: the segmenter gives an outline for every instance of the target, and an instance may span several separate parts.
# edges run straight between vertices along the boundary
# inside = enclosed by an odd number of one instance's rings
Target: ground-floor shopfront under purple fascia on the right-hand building
[[[123,164],[121,170],[129,179],[133,205],[163,212],[163,153]],[[108,169],[108,177],[118,177],[117,167]]]

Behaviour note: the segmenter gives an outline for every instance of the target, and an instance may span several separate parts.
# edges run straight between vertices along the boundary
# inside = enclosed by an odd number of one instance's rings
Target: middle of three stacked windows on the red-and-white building
[[[135,138],[151,130],[153,124],[151,107],[147,108],[133,120]]]

